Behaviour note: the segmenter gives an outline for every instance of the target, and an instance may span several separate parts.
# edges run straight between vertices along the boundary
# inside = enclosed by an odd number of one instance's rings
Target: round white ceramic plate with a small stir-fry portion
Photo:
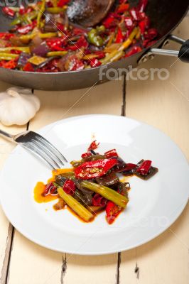
[[[168,136],[151,126],[121,116],[77,116],[39,131],[68,160],[80,159],[89,143],[100,142],[99,152],[117,148],[130,163],[153,161],[159,172],[148,181],[130,178],[129,204],[108,225],[104,213],[85,224],[68,210],[55,212],[54,202],[33,200],[36,182],[46,182],[50,170],[17,146],[1,172],[1,206],[13,226],[31,241],[48,249],[95,255],[134,248],[165,231],[188,201],[188,163]]]

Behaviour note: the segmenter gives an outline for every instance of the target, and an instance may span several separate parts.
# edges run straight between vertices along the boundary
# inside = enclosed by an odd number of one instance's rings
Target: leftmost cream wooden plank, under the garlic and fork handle
[[[4,92],[6,89],[11,87],[10,84],[0,82],[0,92]],[[10,133],[19,133],[26,129],[26,126],[3,126],[0,123],[0,129],[8,131]],[[4,165],[4,161],[11,153],[15,145],[10,141],[5,140],[0,137],[0,170]],[[1,234],[0,234],[0,283],[4,284],[6,282],[6,272],[9,263],[9,253],[11,250],[11,244],[13,239],[13,226],[9,224],[6,219],[4,212],[0,207],[0,224],[1,224]]]

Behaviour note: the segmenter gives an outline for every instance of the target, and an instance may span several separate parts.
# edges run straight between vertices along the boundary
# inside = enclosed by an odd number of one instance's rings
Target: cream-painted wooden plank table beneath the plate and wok
[[[189,17],[175,34],[188,38]],[[177,45],[173,47],[178,48]],[[1,128],[17,133],[80,114],[117,114],[145,121],[170,136],[189,159],[189,66],[158,57],[142,67],[166,67],[166,81],[117,80],[92,89],[34,91],[41,110],[27,126]],[[10,85],[1,82],[3,91]],[[0,169],[13,145],[0,139]],[[33,244],[16,231],[0,207],[1,284],[188,284],[189,206],[153,241],[108,256],[72,256]],[[137,268],[137,269],[136,269]]]

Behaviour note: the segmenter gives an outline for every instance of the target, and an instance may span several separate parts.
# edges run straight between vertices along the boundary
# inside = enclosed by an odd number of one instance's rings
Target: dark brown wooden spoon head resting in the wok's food
[[[72,0],[67,14],[70,21],[84,27],[92,27],[102,21],[112,8],[114,0]]]

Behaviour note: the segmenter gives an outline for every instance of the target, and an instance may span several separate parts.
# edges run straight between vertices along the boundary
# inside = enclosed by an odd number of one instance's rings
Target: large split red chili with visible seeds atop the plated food
[[[75,168],[75,177],[82,180],[89,180],[90,178],[99,178],[114,165],[117,165],[117,159],[92,160],[90,162],[82,163]]]

